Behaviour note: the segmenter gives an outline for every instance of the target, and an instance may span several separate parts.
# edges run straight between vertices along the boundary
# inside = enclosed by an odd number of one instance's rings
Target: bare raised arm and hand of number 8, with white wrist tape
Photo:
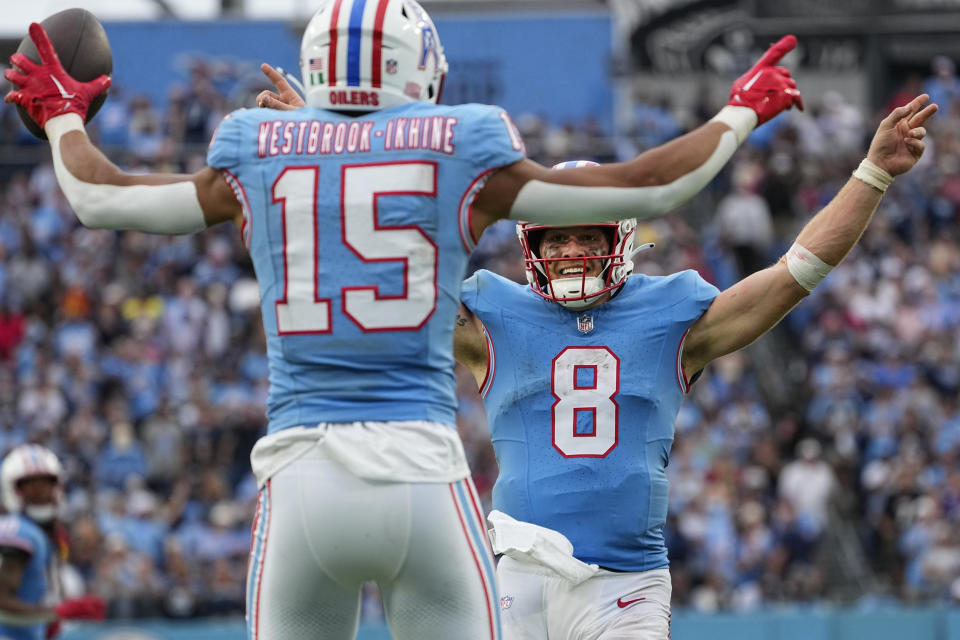
[[[883,119],[866,159],[807,223],[787,255],[716,297],[690,328],[683,346],[684,371],[699,371],[762,336],[843,260],[893,178],[909,171],[923,154],[923,125],[937,110],[928,100],[926,94],[917,96]]]

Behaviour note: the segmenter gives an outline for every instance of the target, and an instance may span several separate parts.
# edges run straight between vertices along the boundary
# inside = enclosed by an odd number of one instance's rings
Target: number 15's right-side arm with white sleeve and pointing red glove
[[[758,124],[803,100],[777,62],[796,45],[784,36],[733,83],[730,102],[710,122],[629,162],[550,171],[523,160],[497,171],[473,204],[479,237],[499,218],[573,224],[650,218],[682,204],[713,179]]]

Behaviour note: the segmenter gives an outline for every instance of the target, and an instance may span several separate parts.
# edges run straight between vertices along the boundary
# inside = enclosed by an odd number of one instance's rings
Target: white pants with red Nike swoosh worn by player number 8
[[[505,640],[667,640],[670,571],[601,570],[575,584],[542,565],[502,556]]]

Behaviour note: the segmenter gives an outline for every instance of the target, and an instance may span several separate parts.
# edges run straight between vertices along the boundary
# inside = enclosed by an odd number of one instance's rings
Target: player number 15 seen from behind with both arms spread
[[[500,637],[499,596],[459,439],[453,330],[476,239],[510,217],[555,224],[659,215],[716,175],[800,95],[784,38],[710,123],[618,165],[551,172],[509,116],[437,104],[446,60],[413,0],[326,0],[301,46],[306,106],[239,110],[193,175],[131,175],[83,120],[108,78],[40,52],[5,76],[44,128],[89,227],[240,228],[261,290],[268,435],[248,573],[252,638],[351,638],[375,580],[394,638]],[[586,206],[585,203],[590,203]],[[440,559],[440,560],[438,560]]]

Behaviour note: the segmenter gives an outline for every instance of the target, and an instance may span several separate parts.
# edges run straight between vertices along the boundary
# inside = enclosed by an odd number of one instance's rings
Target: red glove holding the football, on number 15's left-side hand
[[[17,88],[6,95],[4,102],[19,104],[41,128],[50,118],[65,113],[76,113],[86,120],[90,103],[110,88],[110,77],[100,76],[90,82],[74,80],[60,64],[43,27],[32,23],[30,37],[40,54],[40,64],[22,53],[10,56],[10,64],[16,68],[7,69],[3,75]]]

